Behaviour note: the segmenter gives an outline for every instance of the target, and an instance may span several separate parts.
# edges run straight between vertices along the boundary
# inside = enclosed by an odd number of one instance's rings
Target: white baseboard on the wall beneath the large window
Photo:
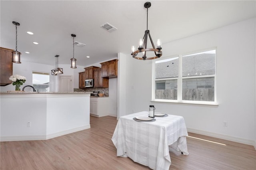
[[[252,146],[254,146],[254,148],[256,148],[256,141],[254,141],[254,140],[237,138],[237,137],[234,137],[234,136],[228,136],[228,135],[225,135],[225,134],[218,134],[218,133],[207,132],[207,131],[197,130],[197,129],[192,129],[192,128],[187,128],[187,130],[188,130],[188,132],[192,132],[192,133],[196,133],[196,134],[202,134],[202,135],[211,136],[211,137],[215,137],[215,138],[220,138],[220,139],[224,139],[224,140],[230,140],[230,141],[233,141],[233,142],[252,145]]]

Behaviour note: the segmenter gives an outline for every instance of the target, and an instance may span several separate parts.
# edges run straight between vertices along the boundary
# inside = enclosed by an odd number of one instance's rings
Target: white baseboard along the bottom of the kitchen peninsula
[[[34,135],[34,136],[1,136],[0,141],[1,142],[6,142],[6,141],[22,141],[22,140],[47,140],[50,138],[55,138],[58,136],[62,136],[65,134],[73,133],[73,132],[78,132],[80,130],[85,130],[90,128],[90,125],[78,127],[78,128],[72,128],[69,130],[64,130],[61,132],[57,132],[54,134],[47,134],[47,135]]]

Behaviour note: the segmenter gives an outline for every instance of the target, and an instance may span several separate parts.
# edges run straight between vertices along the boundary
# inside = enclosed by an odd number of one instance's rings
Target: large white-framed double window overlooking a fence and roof
[[[153,101],[216,104],[216,49],[153,61]]]

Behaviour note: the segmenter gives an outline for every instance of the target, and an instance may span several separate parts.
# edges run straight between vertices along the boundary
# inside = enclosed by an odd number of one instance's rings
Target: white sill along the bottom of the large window
[[[155,100],[152,100],[151,102],[170,103],[170,104],[187,105],[187,106],[218,107],[218,104],[215,102],[204,102],[204,101],[176,101],[176,100],[155,99]]]

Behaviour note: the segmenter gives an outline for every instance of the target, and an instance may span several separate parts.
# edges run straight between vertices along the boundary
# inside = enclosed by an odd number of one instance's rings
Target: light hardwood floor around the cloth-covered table
[[[115,117],[91,117],[91,128],[49,140],[1,142],[1,170],[143,170],[116,156]],[[189,133],[188,156],[171,151],[170,170],[255,170],[253,146]],[[197,139],[201,138],[201,139]],[[209,141],[205,141],[209,140]],[[217,143],[213,143],[213,142]]]

